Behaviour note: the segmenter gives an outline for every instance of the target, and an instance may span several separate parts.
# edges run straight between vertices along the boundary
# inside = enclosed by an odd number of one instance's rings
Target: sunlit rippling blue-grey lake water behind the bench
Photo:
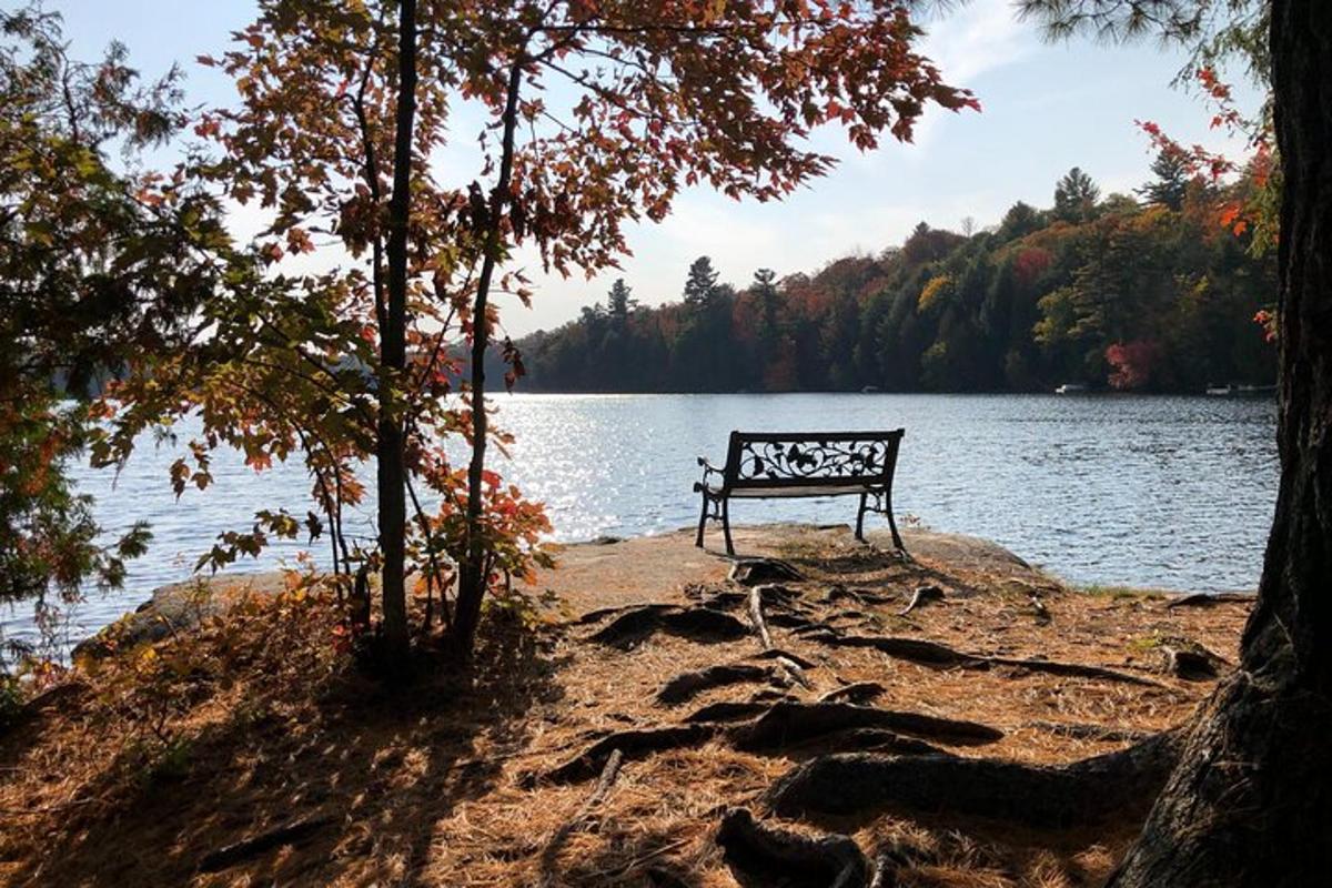
[[[1253,588],[1276,502],[1271,401],[1056,395],[501,395],[497,423],[517,437],[494,466],[546,503],[559,541],[655,534],[691,525],[695,457],[721,462],[731,429],[906,427],[894,505],[926,526],[986,537],[1087,584],[1176,590]],[[188,429],[181,431],[181,442]],[[111,530],[153,523],[149,554],[123,592],[93,594],[69,626],[77,640],[156,586],[185,579],[224,529],[256,509],[308,509],[300,466],[256,475],[236,454],[214,459],[217,483],[176,501],[178,455],[147,443],[119,479],[80,471]],[[369,473],[368,473],[369,474]],[[370,530],[369,513],[361,526]],[[855,518],[852,498],[747,501],[735,523]],[[868,526],[882,525],[871,515]],[[876,523],[879,522],[879,523]],[[719,529],[714,539],[721,545]],[[286,545],[236,570],[272,567]],[[324,556],[325,546],[316,555]],[[4,635],[31,636],[31,607],[0,611]]]

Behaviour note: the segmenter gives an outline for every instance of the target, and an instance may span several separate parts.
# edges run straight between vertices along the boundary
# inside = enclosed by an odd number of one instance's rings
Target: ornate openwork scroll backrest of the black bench
[[[733,431],[725,486],[818,487],[892,483],[902,429],[892,431]]]

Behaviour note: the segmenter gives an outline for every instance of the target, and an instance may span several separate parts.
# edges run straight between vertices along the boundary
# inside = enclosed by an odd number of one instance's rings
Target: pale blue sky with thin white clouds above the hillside
[[[116,39],[145,75],[178,61],[189,101],[209,105],[229,104],[234,92],[194,57],[222,51],[254,15],[252,0],[48,0],[47,7],[64,15],[77,56],[92,57]],[[759,268],[781,277],[876,254],[922,221],[954,230],[967,217],[978,228],[994,225],[1015,201],[1051,205],[1055,181],[1071,166],[1090,173],[1103,194],[1131,192],[1151,178],[1152,161],[1135,120],[1155,121],[1184,144],[1243,153],[1241,140],[1208,128],[1211,112],[1196,93],[1171,87],[1185,61],[1179,49],[1084,39],[1051,45],[1034,23],[1016,19],[1011,0],[971,0],[924,24],[924,55],[946,83],[976,95],[980,113],[931,108],[911,144],[884,140],[868,153],[835,130],[821,132],[814,146],[840,161],[831,174],[777,204],[685,192],[666,221],[630,229],[633,254],[619,270],[591,281],[545,276],[533,256],[519,256],[537,294],[531,309],[501,302],[506,330],[558,326],[603,300],[617,277],[645,305],[678,300],[699,256],[711,257],[722,281],[745,286]],[[1257,103],[1251,88],[1237,96],[1241,105]],[[462,166],[466,158],[445,154],[444,162]],[[244,220],[236,228],[245,229]]]

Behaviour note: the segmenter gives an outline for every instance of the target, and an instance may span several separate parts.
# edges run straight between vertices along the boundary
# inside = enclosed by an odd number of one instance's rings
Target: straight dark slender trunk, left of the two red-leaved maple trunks
[[[416,118],[417,49],[416,0],[402,0],[398,8],[398,105],[393,136],[393,194],[389,198],[389,305],[380,330],[380,439],[378,519],[380,553],[384,556],[381,594],[384,596],[384,643],[389,666],[401,668],[408,660],[406,608],[406,467],[401,410],[402,370],[406,367],[408,313],[408,222],[412,216],[412,136]]]

